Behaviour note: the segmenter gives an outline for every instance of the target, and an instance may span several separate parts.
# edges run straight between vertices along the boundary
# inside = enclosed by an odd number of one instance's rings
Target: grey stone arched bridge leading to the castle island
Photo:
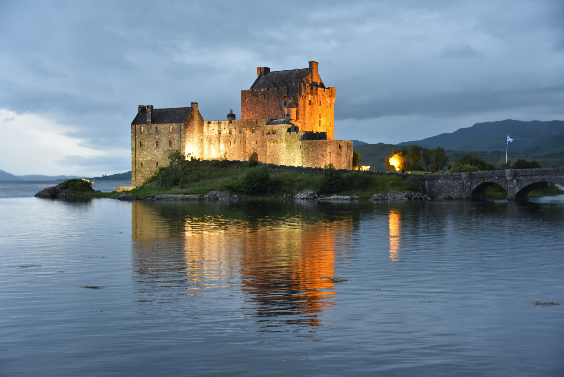
[[[507,192],[508,200],[527,201],[527,194],[544,182],[564,186],[564,168],[508,169],[449,174],[417,175],[421,192],[456,199],[482,198],[494,183]]]

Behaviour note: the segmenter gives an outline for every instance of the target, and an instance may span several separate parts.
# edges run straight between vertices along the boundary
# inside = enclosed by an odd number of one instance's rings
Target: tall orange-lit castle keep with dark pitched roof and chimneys
[[[318,72],[309,68],[272,71],[257,68],[249,90],[241,90],[241,119],[289,119],[300,131],[327,132],[334,139],[335,88],[326,88]],[[294,119],[295,118],[295,119]]]

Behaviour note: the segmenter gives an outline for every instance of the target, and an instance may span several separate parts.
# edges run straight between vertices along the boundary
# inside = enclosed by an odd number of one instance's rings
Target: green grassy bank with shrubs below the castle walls
[[[405,180],[394,175],[368,175],[363,171],[341,174],[331,166],[324,174],[306,174],[295,171],[262,167],[251,167],[249,163],[222,166],[192,166],[180,171],[178,168],[161,168],[156,176],[142,187],[131,190],[136,196],[152,194],[205,194],[211,190],[222,190],[242,197],[283,196],[296,194],[306,189],[320,194],[342,196],[354,195],[369,198],[376,192],[390,190],[406,191],[416,187],[416,179]]]

